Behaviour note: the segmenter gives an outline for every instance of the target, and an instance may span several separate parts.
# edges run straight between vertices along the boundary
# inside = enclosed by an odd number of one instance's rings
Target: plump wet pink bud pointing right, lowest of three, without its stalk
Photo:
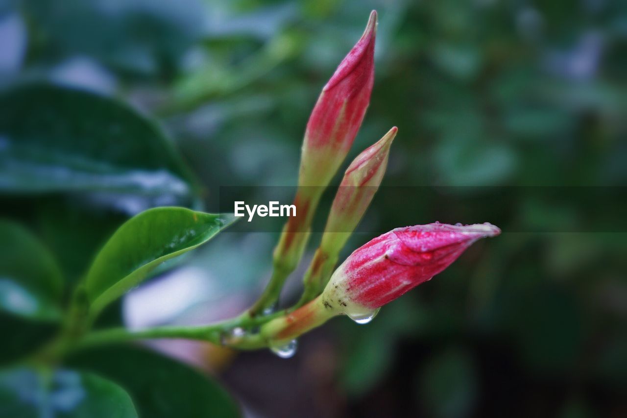
[[[495,237],[490,223],[429,223],[396,228],[355,250],[322,293],[325,306],[367,316],[443,271],[480,238]]]

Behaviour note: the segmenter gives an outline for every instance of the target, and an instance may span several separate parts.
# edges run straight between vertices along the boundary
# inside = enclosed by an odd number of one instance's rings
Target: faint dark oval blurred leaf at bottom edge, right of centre
[[[458,349],[437,355],[426,364],[417,390],[431,416],[471,415],[477,398],[477,372],[472,357]]]

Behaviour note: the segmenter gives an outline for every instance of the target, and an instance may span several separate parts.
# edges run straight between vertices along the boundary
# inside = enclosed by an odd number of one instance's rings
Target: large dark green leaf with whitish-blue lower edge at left
[[[45,83],[0,95],[0,150],[0,191],[90,191],[110,205],[141,198],[150,207],[189,203],[195,188],[151,121],[116,100]]]

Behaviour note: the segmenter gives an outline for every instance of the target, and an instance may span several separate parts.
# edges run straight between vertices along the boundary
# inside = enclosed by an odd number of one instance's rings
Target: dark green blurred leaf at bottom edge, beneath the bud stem
[[[108,347],[81,351],[68,359],[72,367],[90,370],[129,391],[137,412],[150,418],[239,417],[238,405],[211,380],[152,351]]]

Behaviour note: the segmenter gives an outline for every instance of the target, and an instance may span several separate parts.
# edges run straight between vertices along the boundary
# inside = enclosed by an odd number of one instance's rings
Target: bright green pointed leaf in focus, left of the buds
[[[186,208],[149,209],[125,222],[90,267],[85,287],[98,313],[162,262],[204,244],[237,218]]]

